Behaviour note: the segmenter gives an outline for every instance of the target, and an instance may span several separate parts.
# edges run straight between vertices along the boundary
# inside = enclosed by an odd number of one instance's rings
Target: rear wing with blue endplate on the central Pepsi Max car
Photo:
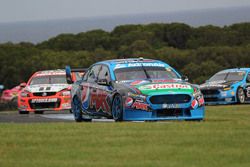
[[[72,84],[76,82],[77,80],[80,80],[87,70],[88,70],[87,68],[71,69],[70,66],[66,66],[65,72],[66,72],[67,83]]]

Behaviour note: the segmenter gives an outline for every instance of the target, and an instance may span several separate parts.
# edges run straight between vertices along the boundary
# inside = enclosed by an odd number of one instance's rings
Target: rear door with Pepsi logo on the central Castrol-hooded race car
[[[100,67],[101,65],[92,66],[84,75],[83,82],[80,84],[82,107],[89,114],[94,114],[95,112],[95,105],[92,99],[95,96],[96,81]]]

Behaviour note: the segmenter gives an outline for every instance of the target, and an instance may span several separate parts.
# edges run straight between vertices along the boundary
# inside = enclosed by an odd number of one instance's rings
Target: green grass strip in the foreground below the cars
[[[1,167],[250,166],[250,105],[203,122],[0,124]]]

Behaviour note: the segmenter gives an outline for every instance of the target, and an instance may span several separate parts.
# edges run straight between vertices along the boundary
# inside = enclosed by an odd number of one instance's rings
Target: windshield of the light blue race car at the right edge
[[[212,76],[209,81],[241,81],[245,76],[244,71],[240,72],[222,72],[217,73],[214,76]]]

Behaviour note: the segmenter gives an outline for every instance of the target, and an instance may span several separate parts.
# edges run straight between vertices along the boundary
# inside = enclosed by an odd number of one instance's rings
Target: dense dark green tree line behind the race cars
[[[86,68],[97,61],[130,57],[163,60],[199,84],[219,70],[250,67],[250,23],[121,25],[111,32],[60,34],[38,44],[3,43],[0,84],[11,88],[38,70]]]

